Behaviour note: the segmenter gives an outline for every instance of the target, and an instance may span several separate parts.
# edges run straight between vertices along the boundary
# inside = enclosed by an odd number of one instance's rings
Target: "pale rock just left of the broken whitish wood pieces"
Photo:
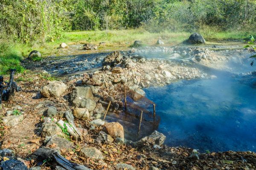
[[[60,127],[58,127],[55,123],[43,123],[42,126],[42,136],[52,136],[52,135],[61,135],[62,130]]]

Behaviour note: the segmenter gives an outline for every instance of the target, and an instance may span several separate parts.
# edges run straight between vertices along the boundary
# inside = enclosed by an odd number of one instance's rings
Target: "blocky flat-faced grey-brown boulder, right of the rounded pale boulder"
[[[90,86],[73,88],[72,92],[70,93],[70,101],[73,106],[79,107],[82,99],[94,99]]]

